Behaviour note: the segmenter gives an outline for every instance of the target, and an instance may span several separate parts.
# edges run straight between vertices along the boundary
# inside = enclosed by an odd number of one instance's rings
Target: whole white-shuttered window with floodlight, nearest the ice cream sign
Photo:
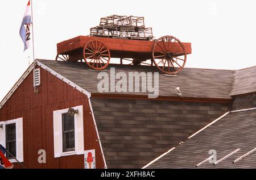
[[[53,111],[54,157],[84,154],[84,116],[82,106],[75,116],[68,116],[69,108]]]

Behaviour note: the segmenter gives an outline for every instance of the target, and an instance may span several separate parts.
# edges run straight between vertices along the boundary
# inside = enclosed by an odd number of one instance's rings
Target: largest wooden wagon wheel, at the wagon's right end
[[[176,74],[184,68],[187,53],[184,45],[176,37],[163,36],[154,44],[152,60],[160,72]]]

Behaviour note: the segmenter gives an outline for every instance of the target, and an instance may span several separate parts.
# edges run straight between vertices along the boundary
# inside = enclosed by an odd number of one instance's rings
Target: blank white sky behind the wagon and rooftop
[[[0,5],[0,101],[28,68],[20,23],[28,0]],[[36,0],[35,57],[53,60],[56,43],[89,35],[102,16],[144,16],[156,38],[172,35],[192,43],[185,67],[241,69],[256,65],[256,1]],[[32,56],[32,55],[30,55]]]

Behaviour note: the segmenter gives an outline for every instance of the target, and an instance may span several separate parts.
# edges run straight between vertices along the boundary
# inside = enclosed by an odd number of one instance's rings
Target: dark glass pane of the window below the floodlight
[[[75,150],[75,118],[62,114],[63,152]]]

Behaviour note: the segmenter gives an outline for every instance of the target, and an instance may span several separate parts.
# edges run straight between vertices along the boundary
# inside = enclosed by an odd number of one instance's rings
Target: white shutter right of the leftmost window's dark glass
[[[23,120],[16,120],[16,158],[19,162],[23,162]]]

